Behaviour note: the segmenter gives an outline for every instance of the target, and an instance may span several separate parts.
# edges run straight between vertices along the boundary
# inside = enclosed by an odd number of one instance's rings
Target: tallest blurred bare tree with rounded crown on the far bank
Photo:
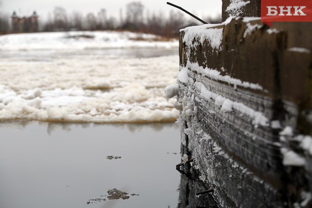
[[[138,30],[143,23],[144,6],[141,2],[131,2],[127,4],[126,22],[129,29]]]

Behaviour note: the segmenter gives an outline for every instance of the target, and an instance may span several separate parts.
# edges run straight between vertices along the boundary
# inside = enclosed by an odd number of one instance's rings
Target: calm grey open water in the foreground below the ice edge
[[[6,123],[0,134],[0,207],[177,206],[176,124]],[[139,196],[87,204],[111,188]]]

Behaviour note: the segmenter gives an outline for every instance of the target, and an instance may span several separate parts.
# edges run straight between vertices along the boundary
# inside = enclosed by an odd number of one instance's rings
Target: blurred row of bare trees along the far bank
[[[1,1],[1,0],[0,0]],[[0,34],[9,33],[8,15],[0,15]],[[210,23],[218,23],[221,18],[204,18]],[[126,30],[132,32],[144,32],[165,37],[176,37],[179,29],[187,26],[201,25],[196,20],[190,20],[187,14],[179,10],[171,10],[169,15],[162,11],[155,13],[145,10],[141,2],[131,2],[126,5],[125,17],[120,10],[119,18],[107,15],[106,9],[100,9],[96,14],[74,11],[70,14],[62,7],[55,7],[49,13],[48,19],[40,21],[40,31],[95,31],[95,30]]]

